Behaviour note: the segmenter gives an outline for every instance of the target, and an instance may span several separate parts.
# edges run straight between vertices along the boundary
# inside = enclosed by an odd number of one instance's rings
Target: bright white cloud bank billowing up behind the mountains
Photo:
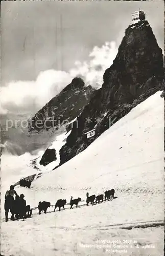
[[[75,76],[81,76],[86,84],[100,87],[103,74],[117,54],[115,42],[106,42],[102,47],[95,46],[89,53],[89,61],[75,62],[70,71],[46,70],[40,72],[36,81],[12,81],[1,88],[2,110],[19,113],[35,113],[51,98],[57,95]],[[33,114],[34,114],[33,113]]]

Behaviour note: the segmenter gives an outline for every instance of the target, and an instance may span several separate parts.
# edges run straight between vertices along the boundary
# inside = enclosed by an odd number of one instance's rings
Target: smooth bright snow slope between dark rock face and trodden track
[[[139,104],[79,156],[36,181],[35,189],[60,186],[91,187],[93,192],[96,188],[108,187],[122,191],[159,190],[159,171],[163,168],[163,98],[160,94],[157,92]]]

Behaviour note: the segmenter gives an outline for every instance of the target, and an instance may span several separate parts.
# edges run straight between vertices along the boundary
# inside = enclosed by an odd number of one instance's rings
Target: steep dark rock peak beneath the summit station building
[[[60,165],[82,152],[113,123],[137,104],[163,88],[163,58],[147,22],[130,25],[113,65],[104,73],[104,83],[77,118],[66,144],[60,150]],[[89,118],[89,119],[88,119]],[[95,136],[85,133],[95,127]]]

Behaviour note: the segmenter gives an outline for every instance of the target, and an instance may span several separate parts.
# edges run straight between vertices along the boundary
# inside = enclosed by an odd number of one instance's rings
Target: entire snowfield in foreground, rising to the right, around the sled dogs
[[[164,100],[160,94],[137,105],[85,151],[37,179],[32,189],[16,189],[32,207],[39,201],[55,204],[57,199],[69,203],[70,196],[81,197],[82,203],[55,213],[50,208],[46,215],[34,211],[32,219],[24,222],[2,220],[2,254],[104,255],[107,248],[103,243],[96,248],[98,239],[131,239],[137,243],[132,247],[127,243],[127,252],[115,255],[163,255]],[[87,191],[98,195],[107,188],[115,189],[116,199],[84,205]]]

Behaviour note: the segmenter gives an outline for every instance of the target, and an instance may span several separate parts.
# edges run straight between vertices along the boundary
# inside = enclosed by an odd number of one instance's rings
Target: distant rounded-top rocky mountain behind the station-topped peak
[[[59,125],[75,119],[95,93],[91,86],[84,86],[81,78],[74,78],[57,96],[52,98],[29,120],[29,133],[58,130]]]

